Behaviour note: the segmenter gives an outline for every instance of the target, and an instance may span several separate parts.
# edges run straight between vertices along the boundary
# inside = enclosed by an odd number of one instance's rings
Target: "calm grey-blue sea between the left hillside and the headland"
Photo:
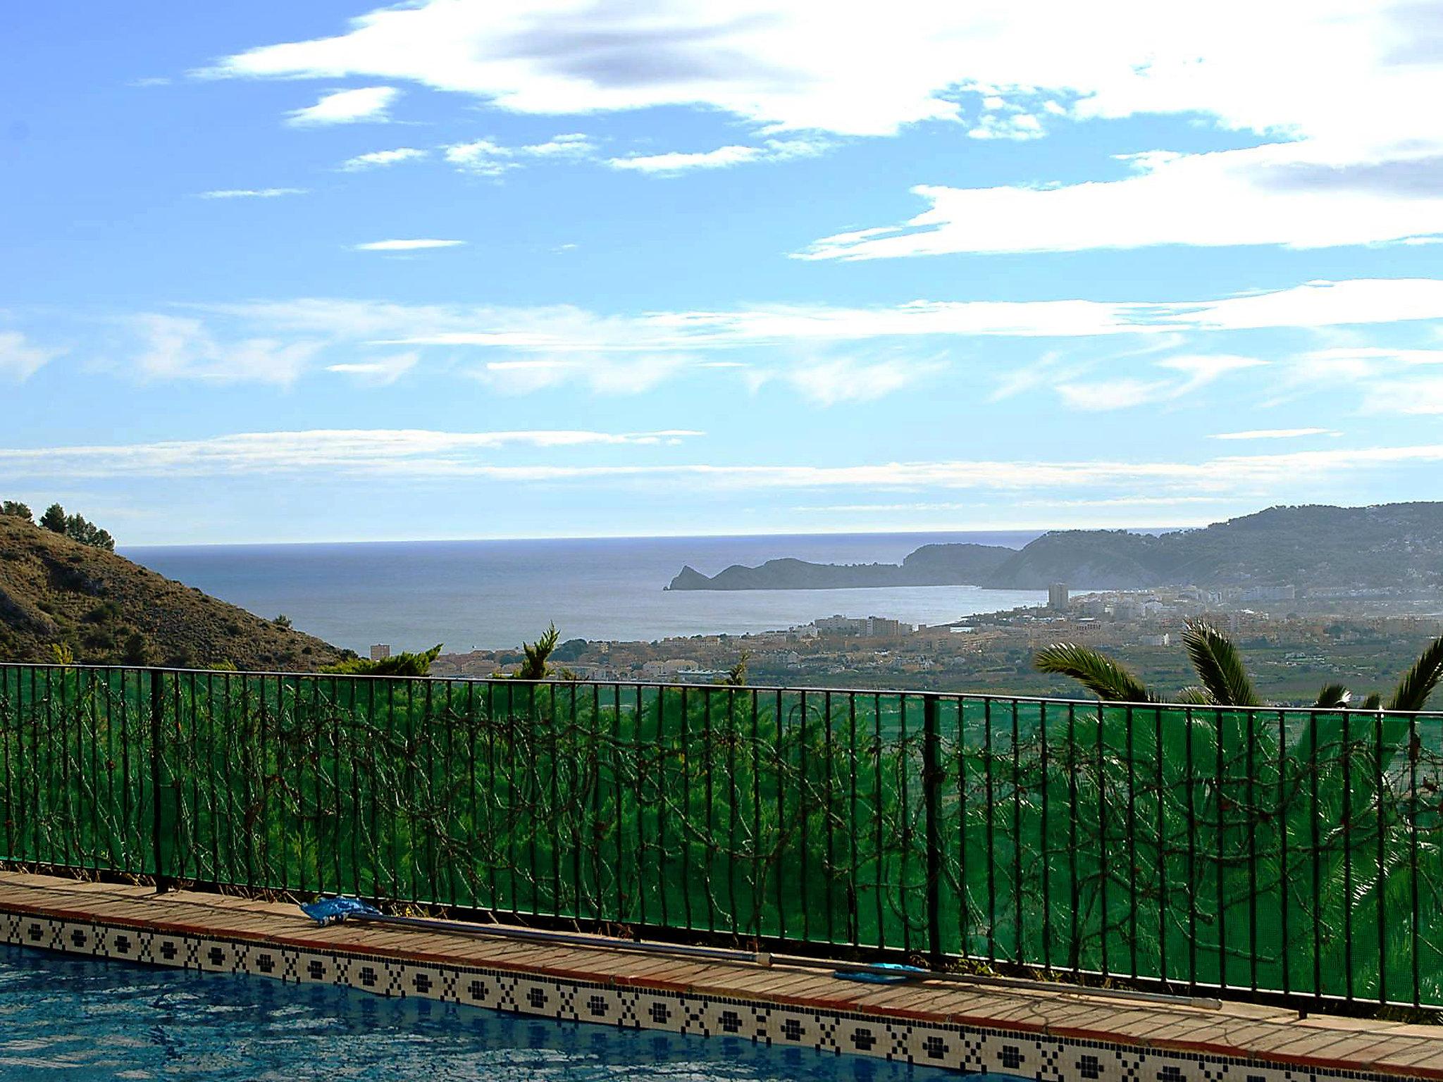
[[[165,545],[123,555],[264,617],[361,654],[372,643],[446,652],[517,648],[553,620],[561,639],[742,635],[818,616],[947,623],[1036,604],[1038,590],[906,586],[861,590],[665,590],[684,564],[716,574],[779,557],[900,563],[919,545],[1022,548],[1040,531],[788,534],[538,541]]]

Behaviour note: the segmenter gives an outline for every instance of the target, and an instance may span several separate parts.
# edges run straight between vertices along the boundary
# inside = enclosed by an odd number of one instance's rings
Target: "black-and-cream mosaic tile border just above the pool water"
[[[421,997],[558,1021],[709,1037],[727,1034],[961,1073],[1016,1075],[1033,1082],[1394,1082],[1401,1078],[12,912],[0,912],[0,942],[202,972],[270,977],[289,984],[336,984],[377,995]]]

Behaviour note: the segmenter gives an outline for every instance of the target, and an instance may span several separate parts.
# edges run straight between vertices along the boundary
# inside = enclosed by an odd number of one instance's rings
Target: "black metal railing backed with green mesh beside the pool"
[[[1443,716],[0,665],[0,860],[1443,1006]]]

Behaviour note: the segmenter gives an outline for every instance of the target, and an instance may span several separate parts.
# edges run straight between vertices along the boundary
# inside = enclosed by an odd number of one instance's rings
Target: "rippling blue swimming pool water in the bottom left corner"
[[[0,946],[0,1079],[939,1082],[860,1056]],[[984,1079],[987,1076],[974,1076]]]

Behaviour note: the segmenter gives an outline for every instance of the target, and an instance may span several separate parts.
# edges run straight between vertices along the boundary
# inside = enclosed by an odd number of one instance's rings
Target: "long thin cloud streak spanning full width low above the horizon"
[[[690,430],[645,433],[427,430],[313,430],[240,433],[203,440],[120,446],[0,449],[7,476],[206,476],[310,473],[385,478],[491,479],[505,483],[678,483],[707,489],[1069,493],[1078,499],[1139,498],[1167,486],[1169,498],[1261,498],[1280,485],[1332,483],[1341,478],[1443,462],[1443,444],[1356,447],[1289,454],[1224,456],[1201,462],[1113,459],[880,462],[838,466],[717,463],[498,463],[508,449],[670,446],[701,436]]]

